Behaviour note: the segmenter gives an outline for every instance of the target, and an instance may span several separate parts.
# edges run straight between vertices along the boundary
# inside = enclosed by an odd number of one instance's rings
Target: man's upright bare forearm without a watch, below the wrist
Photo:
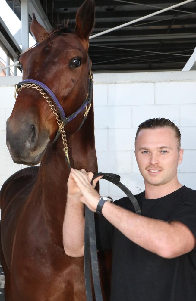
[[[63,245],[67,255],[84,256],[84,204],[70,195],[63,222]]]

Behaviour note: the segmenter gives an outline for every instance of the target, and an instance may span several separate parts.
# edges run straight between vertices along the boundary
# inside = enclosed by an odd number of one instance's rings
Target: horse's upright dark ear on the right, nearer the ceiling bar
[[[85,0],[76,14],[75,32],[82,39],[88,39],[95,22],[95,2]]]

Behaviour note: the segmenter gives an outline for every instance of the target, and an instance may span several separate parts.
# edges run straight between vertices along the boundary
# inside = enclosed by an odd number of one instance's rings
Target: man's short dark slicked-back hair
[[[135,136],[135,141],[136,138],[139,134],[139,132],[142,129],[157,129],[157,128],[170,128],[173,129],[175,132],[175,136],[178,139],[178,148],[180,150],[180,139],[181,139],[181,134],[179,128],[169,119],[165,118],[150,118],[144,122],[142,122],[137,129],[136,136]]]

